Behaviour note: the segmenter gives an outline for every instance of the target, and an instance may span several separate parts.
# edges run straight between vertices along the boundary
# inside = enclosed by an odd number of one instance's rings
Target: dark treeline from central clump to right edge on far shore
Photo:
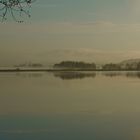
[[[58,69],[92,69],[92,70],[104,70],[104,71],[121,71],[121,70],[140,70],[140,62],[138,63],[126,63],[126,64],[104,64],[97,66],[95,63],[86,63],[78,61],[62,61],[58,64],[54,64],[54,68]]]

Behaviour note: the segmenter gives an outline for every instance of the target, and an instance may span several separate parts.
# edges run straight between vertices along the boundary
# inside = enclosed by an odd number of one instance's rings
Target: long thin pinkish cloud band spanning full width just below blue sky
[[[117,24],[110,21],[95,22],[38,22],[35,24],[1,24],[0,30],[4,35],[87,35],[102,33],[140,32],[140,24]],[[18,37],[18,36],[17,36]]]

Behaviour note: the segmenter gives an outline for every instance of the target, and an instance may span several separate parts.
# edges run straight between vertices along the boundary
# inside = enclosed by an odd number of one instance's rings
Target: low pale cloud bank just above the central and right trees
[[[54,57],[55,56],[55,57]],[[86,61],[95,63],[116,63],[127,59],[139,58],[139,51],[132,50],[99,50],[93,48],[51,49],[40,53],[38,57],[56,63],[63,60]]]

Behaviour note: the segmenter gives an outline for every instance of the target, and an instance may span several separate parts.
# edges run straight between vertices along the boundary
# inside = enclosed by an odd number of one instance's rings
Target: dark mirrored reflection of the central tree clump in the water
[[[71,79],[83,79],[83,78],[94,78],[96,73],[84,73],[84,72],[54,72],[55,77],[59,77],[63,80]]]

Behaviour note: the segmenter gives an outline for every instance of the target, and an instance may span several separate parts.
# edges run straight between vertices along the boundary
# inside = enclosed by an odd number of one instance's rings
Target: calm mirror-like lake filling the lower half
[[[0,73],[0,140],[139,139],[139,72]]]

